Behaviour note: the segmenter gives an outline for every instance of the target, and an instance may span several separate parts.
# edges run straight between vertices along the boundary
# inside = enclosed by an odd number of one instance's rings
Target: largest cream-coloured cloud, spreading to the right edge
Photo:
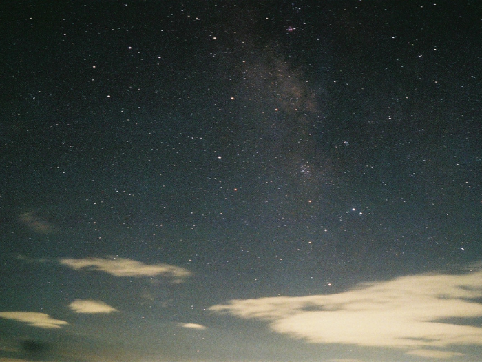
[[[310,343],[408,348],[411,354],[439,352],[442,358],[454,354],[421,348],[482,345],[482,328],[460,323],[482,316],[476,302],[481,298],[479,269],[404,276],[339,294],[233,300],[209,309],[269,321],[271,330]]]

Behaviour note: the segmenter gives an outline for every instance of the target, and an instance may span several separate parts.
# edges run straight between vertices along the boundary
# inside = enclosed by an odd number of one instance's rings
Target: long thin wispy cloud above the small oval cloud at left
[[[174,265],[147,265],[140,261],[122,258],[60,259],[59,263],[74,270],[85,268],[106,272],[114,276],[165,276],[174,279],[174,283],[181,283],[183,279],[191,275],[189,270]]]

